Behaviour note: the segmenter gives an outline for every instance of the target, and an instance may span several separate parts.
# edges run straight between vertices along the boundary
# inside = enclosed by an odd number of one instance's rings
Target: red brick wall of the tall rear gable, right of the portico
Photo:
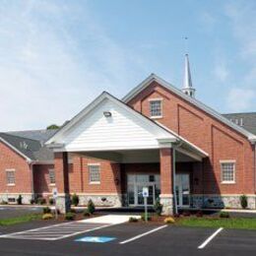
[[[198,175],[197,192],[252,194],[253,150],[248,140],[203,110],[153,82],[146,90],[130,100],[129,104],[150,116],[150,98],[162,98],[163,125],[206,151],[210,158],[204,160],[203,171]],[[221,183],[220,160],[236,160],[236,183]],[[200,192],[201,193],[201,192]]]

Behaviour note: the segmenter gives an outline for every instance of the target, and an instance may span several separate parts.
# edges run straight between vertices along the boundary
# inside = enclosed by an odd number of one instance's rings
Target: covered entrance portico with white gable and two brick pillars
[[[185,189],[186,178],[177,175],[174,179],[176,164],[207,157],[193,144],[107,93],[98,96],[47,145],[55,152],[57,207],[63,213],[70,207],[68,155],[83,157],[86,164],[103,161],[100,182],[88,186],[88,169],[73,163],[73,168],[81,170],[81,190],[88,198],[97,200],[96,195],[100,195],[101,200],[107,200],[109,196],[114,206],[140,206],[141,190],[148,186],[149,204],[154,205],[160,197],[165,215],[173,213],[176,203],[182,206],[189,193]],[[177,200],[173,200],[174,188],[179,195]]]

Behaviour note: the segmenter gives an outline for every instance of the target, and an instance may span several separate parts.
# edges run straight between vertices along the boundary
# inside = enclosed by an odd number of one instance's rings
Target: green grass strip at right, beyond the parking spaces
[[[200,227],[224,227],[224,228],[244,228],[256,229],[256,218],[229,218],[229,219],[212,219],[212,218],[182,218],[177,221],[178,225],[200,226]]]

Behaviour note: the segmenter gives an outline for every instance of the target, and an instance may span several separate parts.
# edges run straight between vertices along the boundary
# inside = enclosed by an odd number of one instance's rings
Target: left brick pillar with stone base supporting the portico
[[[61,214],[70,210],[68,153],[54,154],[55,182],[58,189],[56,207]]]

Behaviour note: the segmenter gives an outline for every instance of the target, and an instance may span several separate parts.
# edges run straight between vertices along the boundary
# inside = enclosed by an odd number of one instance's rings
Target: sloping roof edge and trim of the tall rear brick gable
[[[221,121],[222,123],[224,123],[225,125],[227,125],[228,127],[232,128],[233,130],[235,130],[236,132],[242,134],[243,136],[245,136],[249,141],[251,142],[256,142],[256,136],[254,134],[252,134],[251,132],[245,130],[244,128],[240,127],[239,125],[236,125],[235,123],[229,121],[227,118],[225,118],[222,114],[220,114],[219,112],[217,112],[216,110],[214,110],[213,108],[207,106],[206,104],[202,103],[201,101],[199,101],[198,99],[191,97],[191,96],[187,96],[185,95],[181,90],[175,88],[174,86],[172,86],[171,84],[169,84],[168,82],[164,81],[163,79],[161,79],[159,76],[157,76],[156,74],[151,74],[148,78],[146,78],[141,84],[139,84],[137,87],[135,87],[132,91],[130,91],[126,96],[124,96],[122,98],[122,100],[127,103],[129,102],[133,97],[137,96],[138,94],[140,94],[144,89],[146,89],[148,86],[150,86],[150,84],[152,84],[152,82],[157,82],[159,83],[162,87],[166,88],[167,90],[169,90],[170,92],[172,92],[173,94],[180,96],[181,98],[183,98],[184,100],[190,102],[191,104],[197,106],[198,108],[202,109],[203,111],[207,112],[208,114],[210,114],[211,116],[215,117],[216,119],[218,119],[219,121]]]

